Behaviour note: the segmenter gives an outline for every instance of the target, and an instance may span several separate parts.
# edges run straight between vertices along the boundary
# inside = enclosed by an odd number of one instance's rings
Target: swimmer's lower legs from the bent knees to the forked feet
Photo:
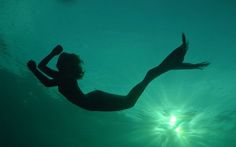
[[[182,34],[182,44],[172,51],[159,66],[149,70],[143,81],[131,89],[131,91],[126,96],[126,103],[128,105],[127,107],[130,108],[134,106],[147,85],[161,74],[169,70],[203,69],[209,65],[208,62],[201,62],[197,64],[183,63],[187,49],[188,43],[186,42],[185,35]]]

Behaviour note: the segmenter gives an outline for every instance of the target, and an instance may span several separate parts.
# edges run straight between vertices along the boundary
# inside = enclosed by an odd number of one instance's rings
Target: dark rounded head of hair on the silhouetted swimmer
[[[83,61],[76,54],[64,52],[58,58],[57,68],[67,78],[81,79],[84,75],[82,63]]]

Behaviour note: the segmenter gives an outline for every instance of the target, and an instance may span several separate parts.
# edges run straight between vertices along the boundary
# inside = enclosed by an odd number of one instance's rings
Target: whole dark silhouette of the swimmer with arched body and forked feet
[[[84,75],[81,66],[83,61],[75,54],[62,53],[63,48],[60,45],[56,46],[38,64],[38,68],[47,76],[51,77],[51,79],[38,70],[35,61],[30,60],[27,66],[44,86],[58,86],[58,90],[62,95],[81,108],[91,111],[118,111],[133,107],[147,85],[161,74],[170,70],[203,69],[209,65],[208,62],[197,64],[183,63],[187,48],[188,43],[186,42],[185,35],[182,34],[182,44],[171,52],[160,65],[150,69],[144,79],[124,96],[110,94],[100,90],[84,94],[77,84],[77,80],[81,79]],[[59,54],[60,56],[57,61],[58,71],[47,67],[48,62]]]

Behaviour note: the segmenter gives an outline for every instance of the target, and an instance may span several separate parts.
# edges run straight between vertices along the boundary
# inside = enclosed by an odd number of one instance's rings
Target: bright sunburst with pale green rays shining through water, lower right
[[[216,134],[229,134],[232,131],[232,128],[226,128],[224,121],[219,120],[219,116],[227,114],[213,106],[193,109],[192,105],[184,103],[174,106],[150,102],[145,108],[132,113],[136,122],[131,136],[135,141],[148,141],[147,146],[210,147],[225,139]],[[231,114],[227,117],[231,118],[228,123],[234,124],[233,132],[236,132],[234,116]]]

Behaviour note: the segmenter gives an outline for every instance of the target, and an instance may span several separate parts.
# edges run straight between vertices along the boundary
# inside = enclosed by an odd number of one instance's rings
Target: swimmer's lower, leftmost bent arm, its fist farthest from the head
[[[36,67],[36,63],[33,60],[30,60],[27,63],[28,68],[30,71],[39,79],[39,81],[46,87],[57,86],[56,79],[49,79],[45,75],[43,75]]]

